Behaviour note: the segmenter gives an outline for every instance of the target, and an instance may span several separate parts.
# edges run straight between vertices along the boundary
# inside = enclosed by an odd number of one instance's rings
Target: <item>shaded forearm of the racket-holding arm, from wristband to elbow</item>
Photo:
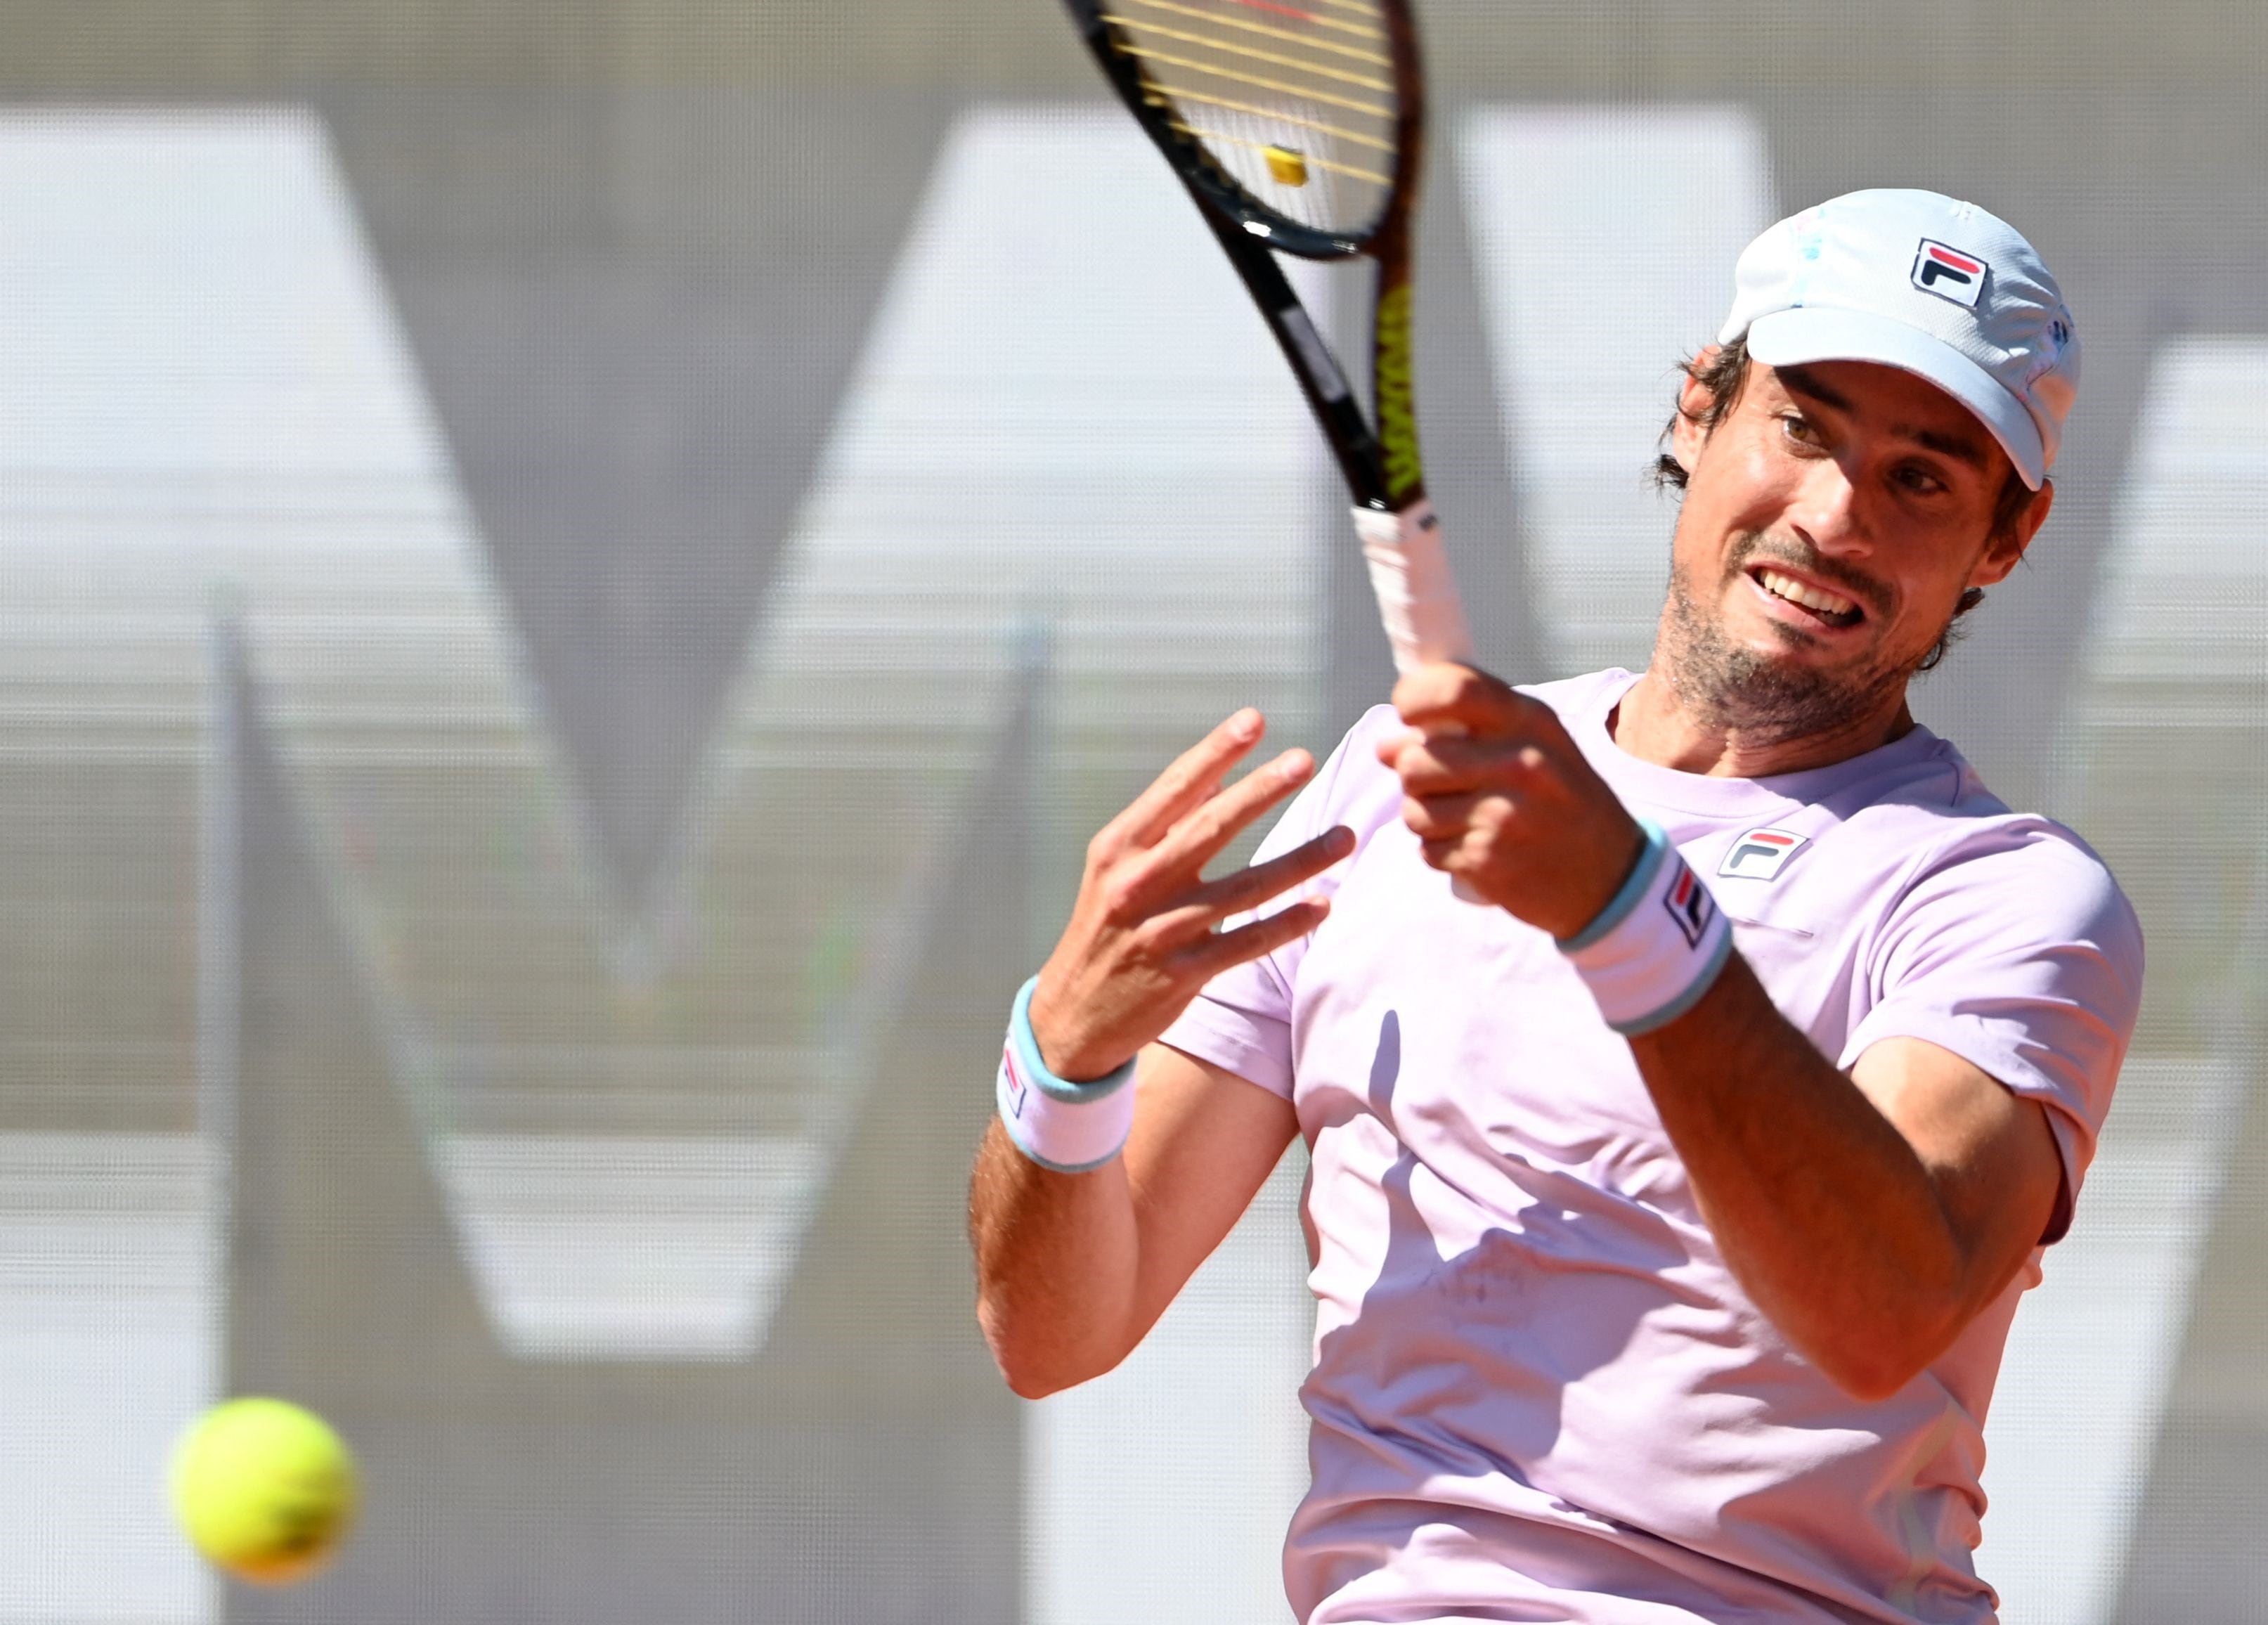
[[[1980,1285],[1930,1169],[1737,953],[1631,1053],[1726,1262],[1805,1357],[1882,1396],[1960,1334]]]

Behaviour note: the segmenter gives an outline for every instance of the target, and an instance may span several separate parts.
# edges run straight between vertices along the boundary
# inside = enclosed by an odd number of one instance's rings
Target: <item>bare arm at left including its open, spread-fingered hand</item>
[[[1070,924],[1018,1005],[1025,1014],[1016,1019],[1030,1019],[1016,1039],[1027,1067],[1077,1085],[1141,1060],[1123,1155],[1100,1167],[1084,1167],[1095,1155],[1086,1146],[1050,1157],[1034,1144],[1025,1155],[1000,1121],[978,1151],[968,1180],[978,1321],[1000,1373],[1025,1398],[1125,1359],[1290,1144],[1286,1098],[1157,1042],[1213,976],[1322,924],[1329,899],[1300,896],[1234,926],[1229,919],[1354,851],[1352,831],[1327,828],[1247,869],[1204,878],[1204,865],[1238,831],[1315,772],[1306,751],[1284,751],[1227,785],[1259,738],[1259,713],[1236,713],[1095,835]],[[1036,1157],[1084,1171],[1064,1173]]]

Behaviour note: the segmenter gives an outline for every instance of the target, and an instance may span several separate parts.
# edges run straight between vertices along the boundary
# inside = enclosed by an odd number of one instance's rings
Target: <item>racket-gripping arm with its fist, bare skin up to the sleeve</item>
[[[1427,667],[1381,744],[1427,862],[1567,940],[1644,835],[1558,717]],[[1885,1035],[1851,1071],[1733,953],[1676,1019],[1631,1037],[1701,1212],[1755,1305],[1860,1398],[1898,1391],[2007,1285],[2057,1210],[2048,1108],[1955,1051]]]

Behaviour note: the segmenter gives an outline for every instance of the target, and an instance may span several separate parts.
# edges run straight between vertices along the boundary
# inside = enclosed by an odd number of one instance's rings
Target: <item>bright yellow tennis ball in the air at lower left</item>
[[[290,1400],[227,1400],[175,1446],[172,1509],[215,1568],[281,1586],[322,1568],[347,1536],[354,1455]]]

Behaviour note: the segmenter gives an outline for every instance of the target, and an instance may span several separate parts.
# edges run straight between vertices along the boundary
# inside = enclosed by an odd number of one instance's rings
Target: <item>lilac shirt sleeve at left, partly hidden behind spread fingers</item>
[[[1270,899],[1254,912],[1225,921],[1222,928],[1266,919],[1300,899],[1329,896],[1338,890],[1347,869],[1361,860],[1361,849],[1402,808],[1402,783],[1377,760],[1379,740],[1399,726],[1402,719],[1393,706],[1374,706],[1365,713],[1322,769],[1284,808],[1284,817],[1268,831],[1268,837],[1252,853],[1252,862],[1268,862],[1336,824],[1354,831],[1356,856],[1306,885]],[[1204,985],[1204,992],[1166,1028],[1159,1042],[1234,1071],[1288,1101],[1293,1089],[1293,987],[1306,944],[1309,937],[1300,937],[1222,971]]]

